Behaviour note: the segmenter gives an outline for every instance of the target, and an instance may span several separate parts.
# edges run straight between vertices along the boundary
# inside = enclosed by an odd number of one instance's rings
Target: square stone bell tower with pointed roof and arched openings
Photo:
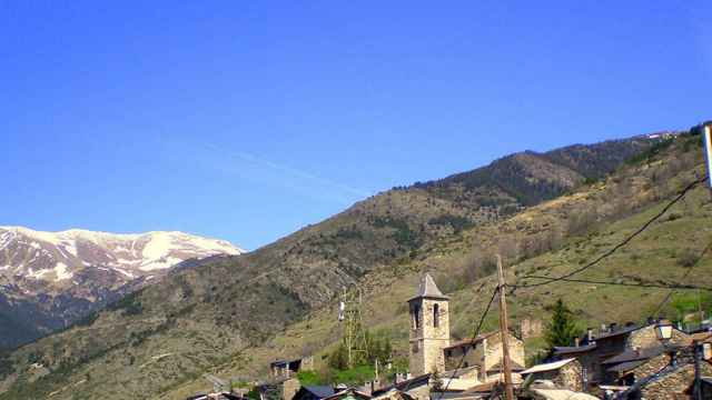
[[[421,279],[411,310],[409,371],[413,377],[445,370],[443,349],[449,346],[449,298],[429,273]]]

